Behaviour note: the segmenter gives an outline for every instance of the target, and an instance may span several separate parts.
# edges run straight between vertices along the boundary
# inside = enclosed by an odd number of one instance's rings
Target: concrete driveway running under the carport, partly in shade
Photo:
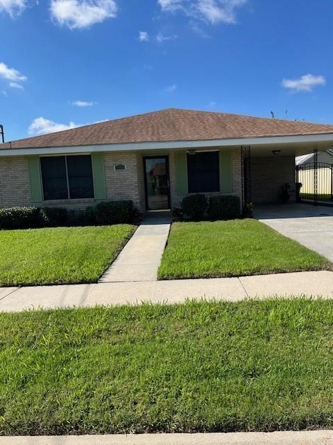
[[[333,207],[280,204],[257,207],[255,218],[333,261]]]

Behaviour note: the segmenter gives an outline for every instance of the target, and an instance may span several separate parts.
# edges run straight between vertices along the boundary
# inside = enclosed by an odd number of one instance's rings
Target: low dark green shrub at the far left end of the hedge
[[[0,229],[33,229],[43,226],[44,218],[38,207],[0,209]]]

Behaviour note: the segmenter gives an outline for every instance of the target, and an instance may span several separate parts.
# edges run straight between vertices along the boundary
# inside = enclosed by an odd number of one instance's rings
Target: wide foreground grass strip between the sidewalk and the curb
[[[0,314],[0,434],[333,428],[332,300]]]

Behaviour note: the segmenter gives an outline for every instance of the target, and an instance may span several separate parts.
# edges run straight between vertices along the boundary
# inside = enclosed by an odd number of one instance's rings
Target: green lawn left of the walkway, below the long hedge
[[[134,227],[0,231],[0,286],[96,282]]]

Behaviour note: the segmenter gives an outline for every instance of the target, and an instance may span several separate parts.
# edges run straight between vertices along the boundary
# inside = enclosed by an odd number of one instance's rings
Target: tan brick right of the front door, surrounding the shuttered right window
[[[171,193],[171,207],[180,207],[182,198],[186,195],[178,195],[176,188],[176,163],[175,151],[169,153],[170,165],[170,193]],[[211,192],[205,193],[207,197],[214,195],[236,195],[241,200],[241,149],[232,149],[232,192],[220,193]]]

